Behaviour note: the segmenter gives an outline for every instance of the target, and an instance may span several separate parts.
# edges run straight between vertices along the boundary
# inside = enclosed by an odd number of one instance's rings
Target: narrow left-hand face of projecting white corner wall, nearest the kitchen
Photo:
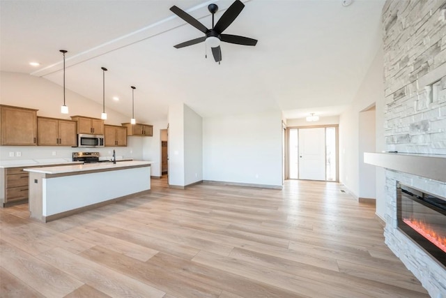
[[[169,105],[169,185],[185,186],[184,104]]]

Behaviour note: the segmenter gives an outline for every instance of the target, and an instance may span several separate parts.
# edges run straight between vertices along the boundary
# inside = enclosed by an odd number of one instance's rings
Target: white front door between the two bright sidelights
[[[325,180],[325,128],[299,129],[299,179]]]

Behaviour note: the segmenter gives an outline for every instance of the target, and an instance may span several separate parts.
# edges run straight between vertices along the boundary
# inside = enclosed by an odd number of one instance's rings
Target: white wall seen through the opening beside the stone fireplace
[[[376,198],[376,171],[374,165],[364,163],[364,152],[374,152],[376,143],[375,108],[359,114],[359,197]]]

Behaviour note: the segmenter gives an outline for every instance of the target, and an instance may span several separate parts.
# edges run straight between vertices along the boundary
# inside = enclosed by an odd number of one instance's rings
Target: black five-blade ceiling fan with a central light
[[[195,45],[206,41],[206,43],[210,45],[210,48],[212,49],[215,62],[220,64],[220,61],[222,61],[222,50],[220,49],[221,41],[224,41],[225,43],[235,43],[237,45],[256,45],[256,39],[231,34],[223,34],[223,31],[229,27],[234,20],[236,20],[236,17],[240,14],[244,7],[245,4],[243,4],[242,1],[234,1],[234,3],[229,6],[229,8],[223,13],[220,20],[218,20],[217,24],[214,26],[214,14],[217,13],[218,6],[217,4],[209,4],[208,10],[210,13],[212,13],[212,29],[208,29],[184,10],[178,8],[177,6],[172,6],[170,10],[173,13],[205,34],[203,37],[188,40],[184,43],[178,43],[178,45],[174,45],[174,47],[180,49],[181,47],[187,47],[189,45]]]

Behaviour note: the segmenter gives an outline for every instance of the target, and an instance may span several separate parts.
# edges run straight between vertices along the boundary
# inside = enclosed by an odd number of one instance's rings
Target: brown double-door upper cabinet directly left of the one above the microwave
[[[37,117],[39,146],[76,146],[76,121]]]

